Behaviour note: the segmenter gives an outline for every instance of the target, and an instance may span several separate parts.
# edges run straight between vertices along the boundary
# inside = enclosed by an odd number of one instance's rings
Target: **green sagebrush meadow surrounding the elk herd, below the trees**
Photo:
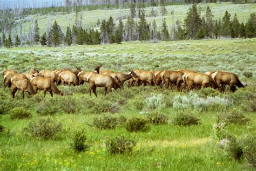
[[[250,4],[251,5],[251,4]],[[40,22],[39,22],[40,23]],[[226,130],[242,140],[245,134],[255,135],[256,39],[188,40],[181,42],[140,43],[120,45],[90,45],[71,47],[18,47],[0,49],[0,70],[15,69],[28,72],[70,68],[76,66],[92,71],[96,65],[103,69],[127,73],[129,69],[176,70],[198,72],[230,71],[247,84],[235,93],[221,94],[211,88],[192,92],[160,90],[158,87],[127,87],[98,98],[87,92],[87,84],[77,87],[59,86],[63,97],[39,92],[33,97],[16,93],[12,100],[10,89],[0,87],[0,170],[253,170],[244,158],[234,160],[219,148],[213,137],[217,115],[236,110],[252,119],[246,125],[228,124]],[[245,73],[252,73],[247,78]],[[2,83],[3,77],[0,78]],[[185,100],[184,100],[185,99]],[[32,113],[28,119],[11,119],[12,108],[22,106]],[[45,110],[46,114],[42,114]],[[115,129],[96,129],[95,117],[146,117],[158,112],[169,119],[164,125],[150,125],[147,132],[126,131],[123,125]],[[177,126],[177,113],[191,113],[200,124]],[[52,114],[50,114],[52,113]],[[52,118],[62,122],[62,131],[55,139],[43,140],[26,135],[30,121]],[[85,130],[90,148],[76,153],[70,148],[73,134]],[[123,135],[137,142],[132,153],[111,155],[105,139]]]

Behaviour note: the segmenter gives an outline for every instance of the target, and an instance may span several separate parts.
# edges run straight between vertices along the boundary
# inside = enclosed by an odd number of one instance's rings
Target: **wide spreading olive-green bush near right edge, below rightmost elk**
[[[217,122],[223,121],[226,123],[240,124],[240,125],[244,125],[250,120],[251,119],[245,118],[245,116],[238,111],[231,111],[230,113],[223,113],[217,116]]]

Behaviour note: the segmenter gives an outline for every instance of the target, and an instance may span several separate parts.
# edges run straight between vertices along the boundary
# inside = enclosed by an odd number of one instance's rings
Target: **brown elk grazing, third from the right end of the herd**
[[[181,84],[183,83],[182,76],[184,75],[183,72],[180,71],[163,71],[161,72],[161,85],[162,88],[164,84],[166,88],[169,88],[169,84],[171,84],[171,90],[173,85],[177,86],[177,91],[182,91],[180,88]],[[172,90],[173,91],[173,90]]]

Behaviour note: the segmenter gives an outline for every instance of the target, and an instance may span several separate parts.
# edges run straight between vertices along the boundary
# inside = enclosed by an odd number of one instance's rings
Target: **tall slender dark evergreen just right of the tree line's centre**
[[[142,11],[139,18],[139,40],[143,41],[147,39],[149,39],[149,26],[146,23],[146,18]]]

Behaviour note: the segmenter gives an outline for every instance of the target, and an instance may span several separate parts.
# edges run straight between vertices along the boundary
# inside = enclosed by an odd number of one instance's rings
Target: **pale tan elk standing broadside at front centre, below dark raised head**
[[[111,88],[114,88],[114,90],[117,90],[117,88],[122,88],[122,83],[118,77],[116,77],[116,80],[117,81],[115,81],[112,77],[104,74],[91,74],[91,76],[88,78],[88,83],[90,85],[90,95],[91,91],[93,91],[93,93],[97,97],[96,87],[105,87],[104,95],[106,95],[107,90],[109,90],[109,92],[112,92]]]

